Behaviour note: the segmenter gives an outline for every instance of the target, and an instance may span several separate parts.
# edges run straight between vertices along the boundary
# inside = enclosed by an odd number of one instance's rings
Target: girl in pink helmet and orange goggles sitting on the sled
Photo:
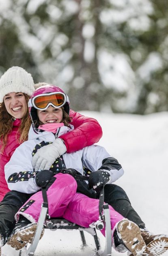
[[[34,193],[15,216],[18,223],[8,243],[16,249],[32,242],[43,202],[41,187],[47,188],[51,217],[63,217],[84,227],[89,227],[98,220],[99,200],[77,193],[77,182],[71,175],[60,173],[62,169],[70,168],[82,175],[84,167],[96,172],[97,180],[92,176],[88,180],[89,187],[94,189],[112,183],[123,175],[123,169],[118,161],[98,145],[63,154],[54,160],[50,170],[34,171],[32,156],[36,151],[71,131],[73,127],[69,125],[69,99],[59,87],[39,87],[29,100],[29,107],[33,124],[28,141],[15,150],[5,166],[9,189]],[[146,246],[139,227],[111,206],[109,208],[113,246],[122,244],[134,255],[141,254]],[[104,234],[104,230],[102,233]]]

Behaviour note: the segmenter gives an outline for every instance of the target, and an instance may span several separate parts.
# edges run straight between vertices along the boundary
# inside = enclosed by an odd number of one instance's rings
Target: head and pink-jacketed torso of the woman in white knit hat
[[[28,136],[28,100],[33,91],[33,78],[22,67],[11,67],[0,78],[0,201],[9,191],[4,165]]]

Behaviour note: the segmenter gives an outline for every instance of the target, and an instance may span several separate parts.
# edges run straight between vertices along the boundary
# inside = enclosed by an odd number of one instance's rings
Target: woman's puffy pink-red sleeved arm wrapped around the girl
[[[101,139],[103,133],[96,119],[86,117],[73,110],[70,110],[69,116],[73,118],[71,124],[75,130],[60,136],[65,143],[67,153],[81,150]]]

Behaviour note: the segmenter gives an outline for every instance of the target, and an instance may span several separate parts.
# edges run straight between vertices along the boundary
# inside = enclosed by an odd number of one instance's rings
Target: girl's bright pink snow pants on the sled
[[[56,174],[54,177],[56,180],[47,189],[50,217],[62,217],[85,228],[99,219],[99,200],[76,193],[77,183],[71,175]],[[37,222],[42,203],[42,192],[39,191],[19,209],[15,216],[16,219],[19,219],[19,215],[23,215],[31,222]],[[109,209],[113,230],[116,223],[124,217],[117,213],[112,206],[109,206]],[[105,234],[104,229],[102,233]]]

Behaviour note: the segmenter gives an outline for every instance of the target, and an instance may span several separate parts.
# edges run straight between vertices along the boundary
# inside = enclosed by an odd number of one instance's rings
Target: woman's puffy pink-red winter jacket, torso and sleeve
[[[75,130],[60,136],[65,142],[67,153],[92,145],[102,137],[102,129],[96,119],[86,117],[73,110],[70,110],[69,116],[73,118],[71,124],[73,124]],[[13,152],[20,145],[16,139],[16,133],[20,124],[21,119],[16,119],[13,122],[12,131],[9,133],[9,142],[4,152],[0,154],[0,201],[9,192],[4,177],[4,166],[9,162]]]

